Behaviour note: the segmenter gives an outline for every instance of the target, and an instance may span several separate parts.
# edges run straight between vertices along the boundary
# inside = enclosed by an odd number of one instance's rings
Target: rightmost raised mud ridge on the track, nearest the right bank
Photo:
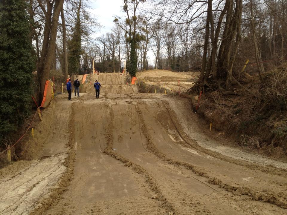
[[[169,104],[167,102],[164,102],[164,105],[166,107],[166,110],[167,110],[167,112],[168,112],[168,114],[170,116],[170,119],[171,119],[175,129],[177,130],[177,133],[179,134],[181,139],[183,139],[183,141],[187,145],[190,145],[191,147],[195,148],[198,151],[201,151],[201,152],[203,152],[205,154],[208,154],[210,156],[213,156],[215,158],[218,158],[220,160],[223,160],[223,161],[226,161],[226,162],[229,162],[229,163],[234,163],[236,165],[247,167],[247,168],[250,168],[252,170],[259,170],[259,171],[262,171],[264,173],[270,173],[271,175],[278,175],[278,176],[287,178],[287,170],[284,170],[284,169],[281,169],[281,168],[277,168],[277,167],[274,167],[274,166],[263,166],[263,165],[260,165],[260,164],[254,164],[254,163],[251,163],[251,162],[248,162],[248,161],[244,161],[244,160],[240,160],[239,161],[239,160],[236,160],[236,159],[233,159],[231,157],[222,155],[222,154],[220,154],[218,152],[215,152],[215,151],[211,151],[211,150],[209,150],[207,148],[204,148],[204,147],[198,145],[196,143],[196,140],[190,140],[189,137],[187,136],[187,134],[183,132],[183,128],[181,127],[180,123],[178,123],[177,118],[176,118],[176,114],[170,108]]]

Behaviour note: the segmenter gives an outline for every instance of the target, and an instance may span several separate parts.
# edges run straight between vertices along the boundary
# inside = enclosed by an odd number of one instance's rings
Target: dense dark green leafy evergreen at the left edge
[[[24,0],[0,1],[0,144],[31,109],[35,58],[26,8]]]

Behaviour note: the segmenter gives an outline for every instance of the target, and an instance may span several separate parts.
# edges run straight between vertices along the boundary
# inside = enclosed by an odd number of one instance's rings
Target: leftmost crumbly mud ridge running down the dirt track
[[[64,165],[67,167],[66,172],[63,173],[58,182],[54,185],[55,188],[47,194],[47,197],[40,199],[35,205],[33,211],[30,212],[30,215],[40,215],[43,214],[51,206],[57,205],[61,196],[67,189],[66,187],[70,185],[72,176],[74,175],[74,106],[71,105],[71,115],[69,116],[69,128],[70,128],[70,137],[67,146],[70,148],[68,151],[68,157],[65,159]]]

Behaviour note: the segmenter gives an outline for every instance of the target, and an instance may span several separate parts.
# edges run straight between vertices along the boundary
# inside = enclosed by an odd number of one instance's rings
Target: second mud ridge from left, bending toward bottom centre
[[[155,179],[147,173],[147,171],[142,168],[140,165],[137,165],[130,160],[124,158],[120,154],[116,153],[113,150],[113,119],[114,119],[114,113],[109,104],[106,104],[106,106],[109,107],[110,109],[110,114],[111,114],[111,120],[109,121],[108,128],[106,131],[106,142],[107,142],[107,147],[103,150],[104,153],[106,153],[109,156],[112,156],[113,158],[121,161],[124,163],[125,166],[130,167],[133,171],[135,171],[138,174],[141,174],[144,176],[144,179],[146,180],[147,184],[149,185],[149,189],[156,194],[155,199],[157,199],[161,204],[161,207],[165,208],[166,212],[168,215],[175,214],[175,210],[172,207],[172,204],[167,201],[167,199],[163,196],[161,193],[160,189],[158,188],[158,185],[155,182]]]

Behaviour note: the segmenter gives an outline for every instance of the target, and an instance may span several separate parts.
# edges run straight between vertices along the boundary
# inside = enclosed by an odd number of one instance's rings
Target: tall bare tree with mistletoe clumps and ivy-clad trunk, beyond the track
[[[123,29],[125,32],[126,41],[130,44],[129,53],[129,74],[135,76],[138,68],[137,46],[141,40],[145,39],[145,36],[139,32],[141,19],[136,16],[136,12],[140,3],[144,3],[145,0],[124,0],[123,11],[126,13],[125,22],[121,22],[118,18],[115,18],[114,22]]]

